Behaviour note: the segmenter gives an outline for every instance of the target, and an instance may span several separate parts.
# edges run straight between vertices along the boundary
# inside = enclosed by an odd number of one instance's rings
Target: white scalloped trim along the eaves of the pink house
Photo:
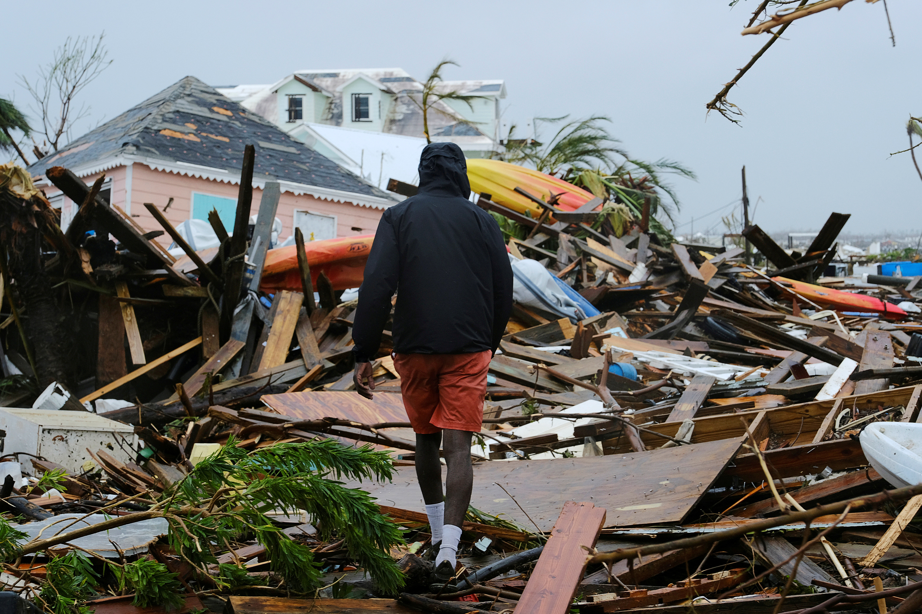
[[[134,162],[143,164],[152,170],[165,170],[176,175],[197,177],[204,180],[221,181],[224,183],[230,183],[231,185],[240,184],[240,171],[238,170],[206,167],[189,162],[160,160],[146,156],[115,156],[106,158],[101,161],[93,162],[82,167],[72,167],[71,170],[75,175],[77,175],[77,177],[87,177],[88,175],[93,175],[110,168],[127,167]],[[262,190],[266,187],[266,181],[267,180],[254,179],[253,187]],[[308,196],[313,196],[313,198],[318,198],[322,201],[331,201],[333,203],[352,203],[361,207],[369,207],[371,209],[388,209],[391,206],[397,204],[396,202],[389,199],[380,198],[378,196],[369,196],[367,194],[359,194],[352,191],[322,188],[320,186],[296,183],[289,180],[276,181],[278,181],[281,191],[289,191],[295,196],[306,194]],[[48,180],[42,179],[37,180],[36,184],[43,186],[50,185],[50,182]]]

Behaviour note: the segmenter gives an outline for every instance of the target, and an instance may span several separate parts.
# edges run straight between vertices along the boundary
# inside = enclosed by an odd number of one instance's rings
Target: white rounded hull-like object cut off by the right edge
[[[859,437],[871,467],[894,488],[922,483],[922,424],[870,423]]]

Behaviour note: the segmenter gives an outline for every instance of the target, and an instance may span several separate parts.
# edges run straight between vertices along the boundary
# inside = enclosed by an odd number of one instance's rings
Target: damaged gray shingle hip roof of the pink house
[[[37,176],[53,166],[77,168],[125,154],[239,172],[245,145],[256,148],[254,179],[272,177],[393,200],[194,76],[42,158],[29,171]]]

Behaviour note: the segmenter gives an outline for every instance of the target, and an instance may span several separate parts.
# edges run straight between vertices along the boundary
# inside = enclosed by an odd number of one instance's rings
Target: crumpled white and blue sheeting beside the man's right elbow
[[[562,284],[544,266],[529,259],[518,260],[510,256],[513,267],[513,299],[527,307],[569,318],[573,323],[598,315],[585,298],[573,288]]]

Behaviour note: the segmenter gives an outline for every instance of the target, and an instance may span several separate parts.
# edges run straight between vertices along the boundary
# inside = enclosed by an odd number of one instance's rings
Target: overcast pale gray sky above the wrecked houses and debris
[[[505,79],[504,120],[608,115],[632,156],[692,168],[698,181],[674,181],[679,233],[691,218],[695,231],[723,232],[735,205],[707,214],[739,202],[743,164],[769,231],[816,229],[837,211],[852,214],[846,233],[917,233],[922,181],[908,154],[889,154],[922,114],[922,3],[888,3],[895,48],[882,2],[800,19],[731,90],[745,112],[736,126],[705,117],[704,104],[769,35],[739,35],[757,0],[727,1],[49,1],[40,25],[6,29],[0,96],[28,106],[16,74],[34,75],[66,37],[102,30],[114,62],[85,90],[92,116],[75,137],[184,75],[232,85],[399,66],[424,78],[448,56],[461,65],[446,78]],[[4,11],[7,24],[36,17],[29,3]]]

